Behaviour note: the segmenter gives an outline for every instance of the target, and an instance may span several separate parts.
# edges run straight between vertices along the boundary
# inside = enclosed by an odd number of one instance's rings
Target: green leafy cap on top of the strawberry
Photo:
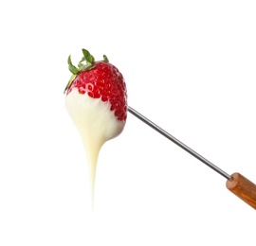
[[[76,79],[76,77],[82,71],[90,70],[95,67],[95,59],[90,54],[90,52],[83,48],[82,54],[83,54],[83,57],[82,57],[82,60],[78,63],[78,67],[74,66],[73,63],[71,62],[71,56],[68,56],[68,58],[67,58],[68,69],[72,73],[72,76],[68,80],[68,82],[64,88],[64,93],[66,92],[66,90],[69,88],[69,86],[72,84],[72,82]],[[103,61],[101,61],[101,62],[109,62],[109,61],[108,61],[107,57],[105,55],[103,55]]]

